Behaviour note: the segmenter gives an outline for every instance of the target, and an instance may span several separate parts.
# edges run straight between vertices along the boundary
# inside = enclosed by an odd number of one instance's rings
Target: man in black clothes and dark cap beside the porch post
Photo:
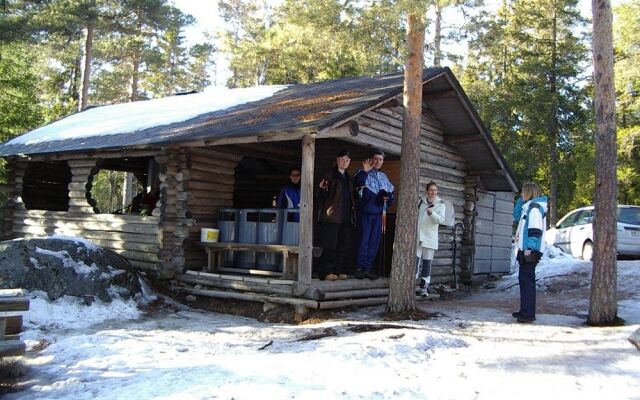
[[[319,260],[320,279],[347,279],[343,273],[347,243],[352,236],[354,220],[353,179],[347,168],[351,162],[348,151],[341,151],[336,165],[320,180],[318,209],[318,244],[322,247]]]

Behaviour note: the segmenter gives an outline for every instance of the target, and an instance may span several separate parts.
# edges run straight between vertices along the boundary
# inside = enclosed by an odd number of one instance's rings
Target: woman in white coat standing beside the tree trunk
[[[431,283],[431,263],[438,250],[438,226],[444,222],[445,205],[438,197],[435,182],[427,183],[427,197],[420,196],[418,207],[417,273],[420,278],[420,295],[429,296],[427,289]]]

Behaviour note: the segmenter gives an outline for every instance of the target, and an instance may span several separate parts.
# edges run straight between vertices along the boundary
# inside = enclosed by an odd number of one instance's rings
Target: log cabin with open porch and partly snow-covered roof
[[[508,272],[518,188],[489,131],[451,70],[425,69],[420,187],[399,187],[402,91],[398,72],[205,91],[76,113],[0,145],[8,169],[3,238],[80,236],[198,296],[301,309],[382,303],[388,278],[324,282],[313,275],[319,175],[339,149],[351,152],[355,169],[379,148],[398,195],[424,193],[435,181],[452,205],[454,221],[440,229],[432,282],[469,284]],[[292,167],[301,170],[295,245],[200,242],[203,228],[218,227],[221,210],[270,207]],[[143,215],[101,209],[94,194],[101,171],[124,171],[155,187],[156,207]],[[386,276],[395,212],[389,210],[378,257]],[[230,251],[271,252],[281,265],[225,266]]]

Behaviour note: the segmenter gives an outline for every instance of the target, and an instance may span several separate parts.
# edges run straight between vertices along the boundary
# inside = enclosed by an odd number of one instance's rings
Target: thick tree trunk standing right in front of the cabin
[[[422,118],[422,65],[424,20],[409,14],[407,61],[404,72],[404,121],[400,157],[400,195],[394,238],[387,312],[415,310],[416,235],[420,184],[420,123]]]

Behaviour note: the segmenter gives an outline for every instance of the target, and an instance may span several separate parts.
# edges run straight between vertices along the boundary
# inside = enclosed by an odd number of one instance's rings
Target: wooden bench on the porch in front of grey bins
[[[253,243],[221,243],[221,242],[200,242],[200,246],[207,251],[207,271],[208,272],[240,272],[256,275],[282,276],[287,279],[295,278],[298,274],[299,246],[289,246],[284,244],[253,244]],[[255,251],[257,253],[279,253],[282,255],[282,272],[266,271],[261,269],[244,269],[224,266],[225,251]],[[313,248],[313,257],[322,254],[321,247]]]

